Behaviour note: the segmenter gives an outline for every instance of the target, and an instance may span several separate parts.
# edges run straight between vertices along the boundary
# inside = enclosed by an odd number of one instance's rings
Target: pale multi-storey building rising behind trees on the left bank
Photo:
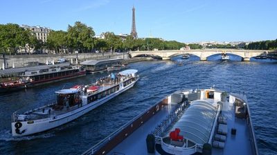
[[[42,40],[42,42],[44,43],[47,41],[49,32],[51,32],[50,28],[41,26],[21,25],[21,28],[24,28],[25,30],[30,30],[31,32],[33,32],[35,37],[37,37],[37,40]]]

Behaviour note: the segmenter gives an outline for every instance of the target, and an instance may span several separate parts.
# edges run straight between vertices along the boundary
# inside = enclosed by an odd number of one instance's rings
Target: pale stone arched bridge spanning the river
[[[204,49],[204,50],[154,50],[154,51],[131,51],[129,52],[131,57],[135,56],[159,56],[163,60],[168,60],[172,56],[178,56],[182,54],[193,54],[198,56],[201,61],[206,61],[208,56],[214,54],[235,54],[242,57],[242,61],[250,61],[253,56],[258,56],[263,53],[273,52],[271,50],[238,50],[238,49]]]

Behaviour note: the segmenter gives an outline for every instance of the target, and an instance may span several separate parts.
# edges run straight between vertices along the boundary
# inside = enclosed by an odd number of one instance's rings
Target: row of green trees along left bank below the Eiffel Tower
[[[132,36],[120,37],[114,32],[102,33],[105,39],[95,37],[93,28],[80,21],[68,25],[66,31],[52,30],[46,43],[37,40],[33,32],[14,23],[0,24],[0,52],[15,54],[19,49],[53,50],[61,52],[116,52],[129,50],[179,50],[186,46],[178,41],[163,41],[158,38],[134,39]],[[195,46],[196,47],[196,46]]]

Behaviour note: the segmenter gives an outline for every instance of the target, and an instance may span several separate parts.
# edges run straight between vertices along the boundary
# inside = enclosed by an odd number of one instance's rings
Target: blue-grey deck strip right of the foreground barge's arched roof
[[[234,105],[227,103],[222,107],[222,116],[227,118],[228,134],[226,135],[225,147],[224,149],[217,149],[213,147],[213,154],[253,154],[250,132],[247,125],[247,119],[245,118],[235,118],[235,107]],[[231,134],[231,129],[236,129],[236,134]]]

